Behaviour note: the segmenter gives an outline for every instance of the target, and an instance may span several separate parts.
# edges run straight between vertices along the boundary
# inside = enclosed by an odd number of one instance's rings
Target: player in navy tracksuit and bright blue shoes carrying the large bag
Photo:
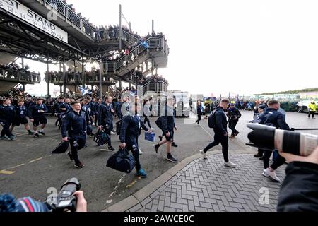
[[[141,105],[137,102],[131,105],[130,114],[124,116],[122,119],[119,138],[121,142],[120,148],[127,148],[127,150],[131,150],[131,153],[134,155],[136,160],[136,176],[145,178],[147,177],[147,174],[145,170],[141,168],[137,140],[141,128],[143,128],[144,131],[147,131],[147,133],[150,133],[151,131],[143,124],[143,121],[138,114],[140,111]]]

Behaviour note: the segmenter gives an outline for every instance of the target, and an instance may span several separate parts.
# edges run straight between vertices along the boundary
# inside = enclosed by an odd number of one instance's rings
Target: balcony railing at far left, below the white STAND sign
[[[40,74],[14,71],[11,69],[0,69],[0,79],[16,81],[18,83],[40,83]]]

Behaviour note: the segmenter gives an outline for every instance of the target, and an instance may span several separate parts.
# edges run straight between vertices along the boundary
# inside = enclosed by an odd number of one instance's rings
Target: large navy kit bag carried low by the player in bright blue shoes
[[[107,167],[124,172],[126,174],[129,174],[134,169],[135,165],[136,161],[134,156],[129,154],[129,151],[126,148],[121,148],[119,151],[117,151],[117,153],[114,153],[114,155],[110,156],[106,164]]]

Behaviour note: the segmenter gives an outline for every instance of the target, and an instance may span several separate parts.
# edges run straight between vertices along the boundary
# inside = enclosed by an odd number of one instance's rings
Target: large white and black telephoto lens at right
[[[253,131],[247,135],[247,145],[264,150],[279,150],[293,155],[308,156],[318,145],[318,136],[276,129],[273,126],[248,123]]]

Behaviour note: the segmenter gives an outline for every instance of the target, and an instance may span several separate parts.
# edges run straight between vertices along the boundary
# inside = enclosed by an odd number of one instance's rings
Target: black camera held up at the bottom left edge
[[[73,177],[68,179],[63,186],[61,186],[56,202],[50,205],[52,210],[54,212],[75,212],[77,200],[76,196],[73,196],[73,194],[79,189],[81,189],[81,184],[78,182],[77,178]]]

